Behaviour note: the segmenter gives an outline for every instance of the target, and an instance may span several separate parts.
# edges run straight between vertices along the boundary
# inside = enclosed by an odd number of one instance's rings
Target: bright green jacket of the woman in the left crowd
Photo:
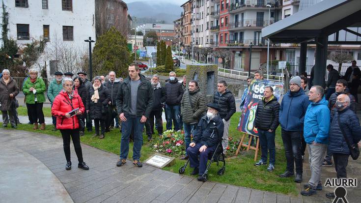
[[[25,94],[26,103],[35,104],[34,93],[32,91],[29,91],[30,87],[34,87],[36,89],[37,102],[38,103],[45,102],[44,92],[45,92],[46,87],[45,87],[45,83],[44,83],[43,79],[37,78],[35,83],[31,83],[30,77],[29,77],[24,83],[23,92]]]

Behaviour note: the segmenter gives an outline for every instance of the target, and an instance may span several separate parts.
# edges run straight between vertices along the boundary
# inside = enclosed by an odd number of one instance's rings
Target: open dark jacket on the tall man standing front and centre
[[[138,86],[137,92],[137,115],[136,116],[145,116],[149,118],[149,114],[153,109],[153,86],[143,75],[140,75],[140,84]],[[120,84],[118,94],[116,95],[116,110],[118,115],[124,113],[125,115],[130,114],[130,97],[131,97],[131,87],[130,87],[130,77]]]

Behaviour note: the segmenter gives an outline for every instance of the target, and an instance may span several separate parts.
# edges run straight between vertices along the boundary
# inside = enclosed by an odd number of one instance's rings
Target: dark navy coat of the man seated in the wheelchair
[[[193,138],[193,143],[200,143],[207,147],[217,145],[223,136],[224,124],[221,116],[217,115],[209,122],[208,117],[203,116],[197,125],[197,129]]]

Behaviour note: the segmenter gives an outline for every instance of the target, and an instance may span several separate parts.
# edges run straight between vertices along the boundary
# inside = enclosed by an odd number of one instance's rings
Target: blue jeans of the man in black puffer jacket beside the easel
[[[275,146],[275,132],[268,132],[258,129],[258,137],[261,145],[261,160],[267,162],[268,150],[270,151],[270,164],[275,165],[276,162],[276,146]]]

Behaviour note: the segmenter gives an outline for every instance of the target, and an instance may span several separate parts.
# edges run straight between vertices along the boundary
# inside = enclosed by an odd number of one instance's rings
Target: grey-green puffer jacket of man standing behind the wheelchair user
[[[192,105],[190,104],[192,102]],[[190,92],[185,91],[181,101],[181,114],[183,122],[197,124],[202,114],[206,111],[205,96],[199,88]]]

